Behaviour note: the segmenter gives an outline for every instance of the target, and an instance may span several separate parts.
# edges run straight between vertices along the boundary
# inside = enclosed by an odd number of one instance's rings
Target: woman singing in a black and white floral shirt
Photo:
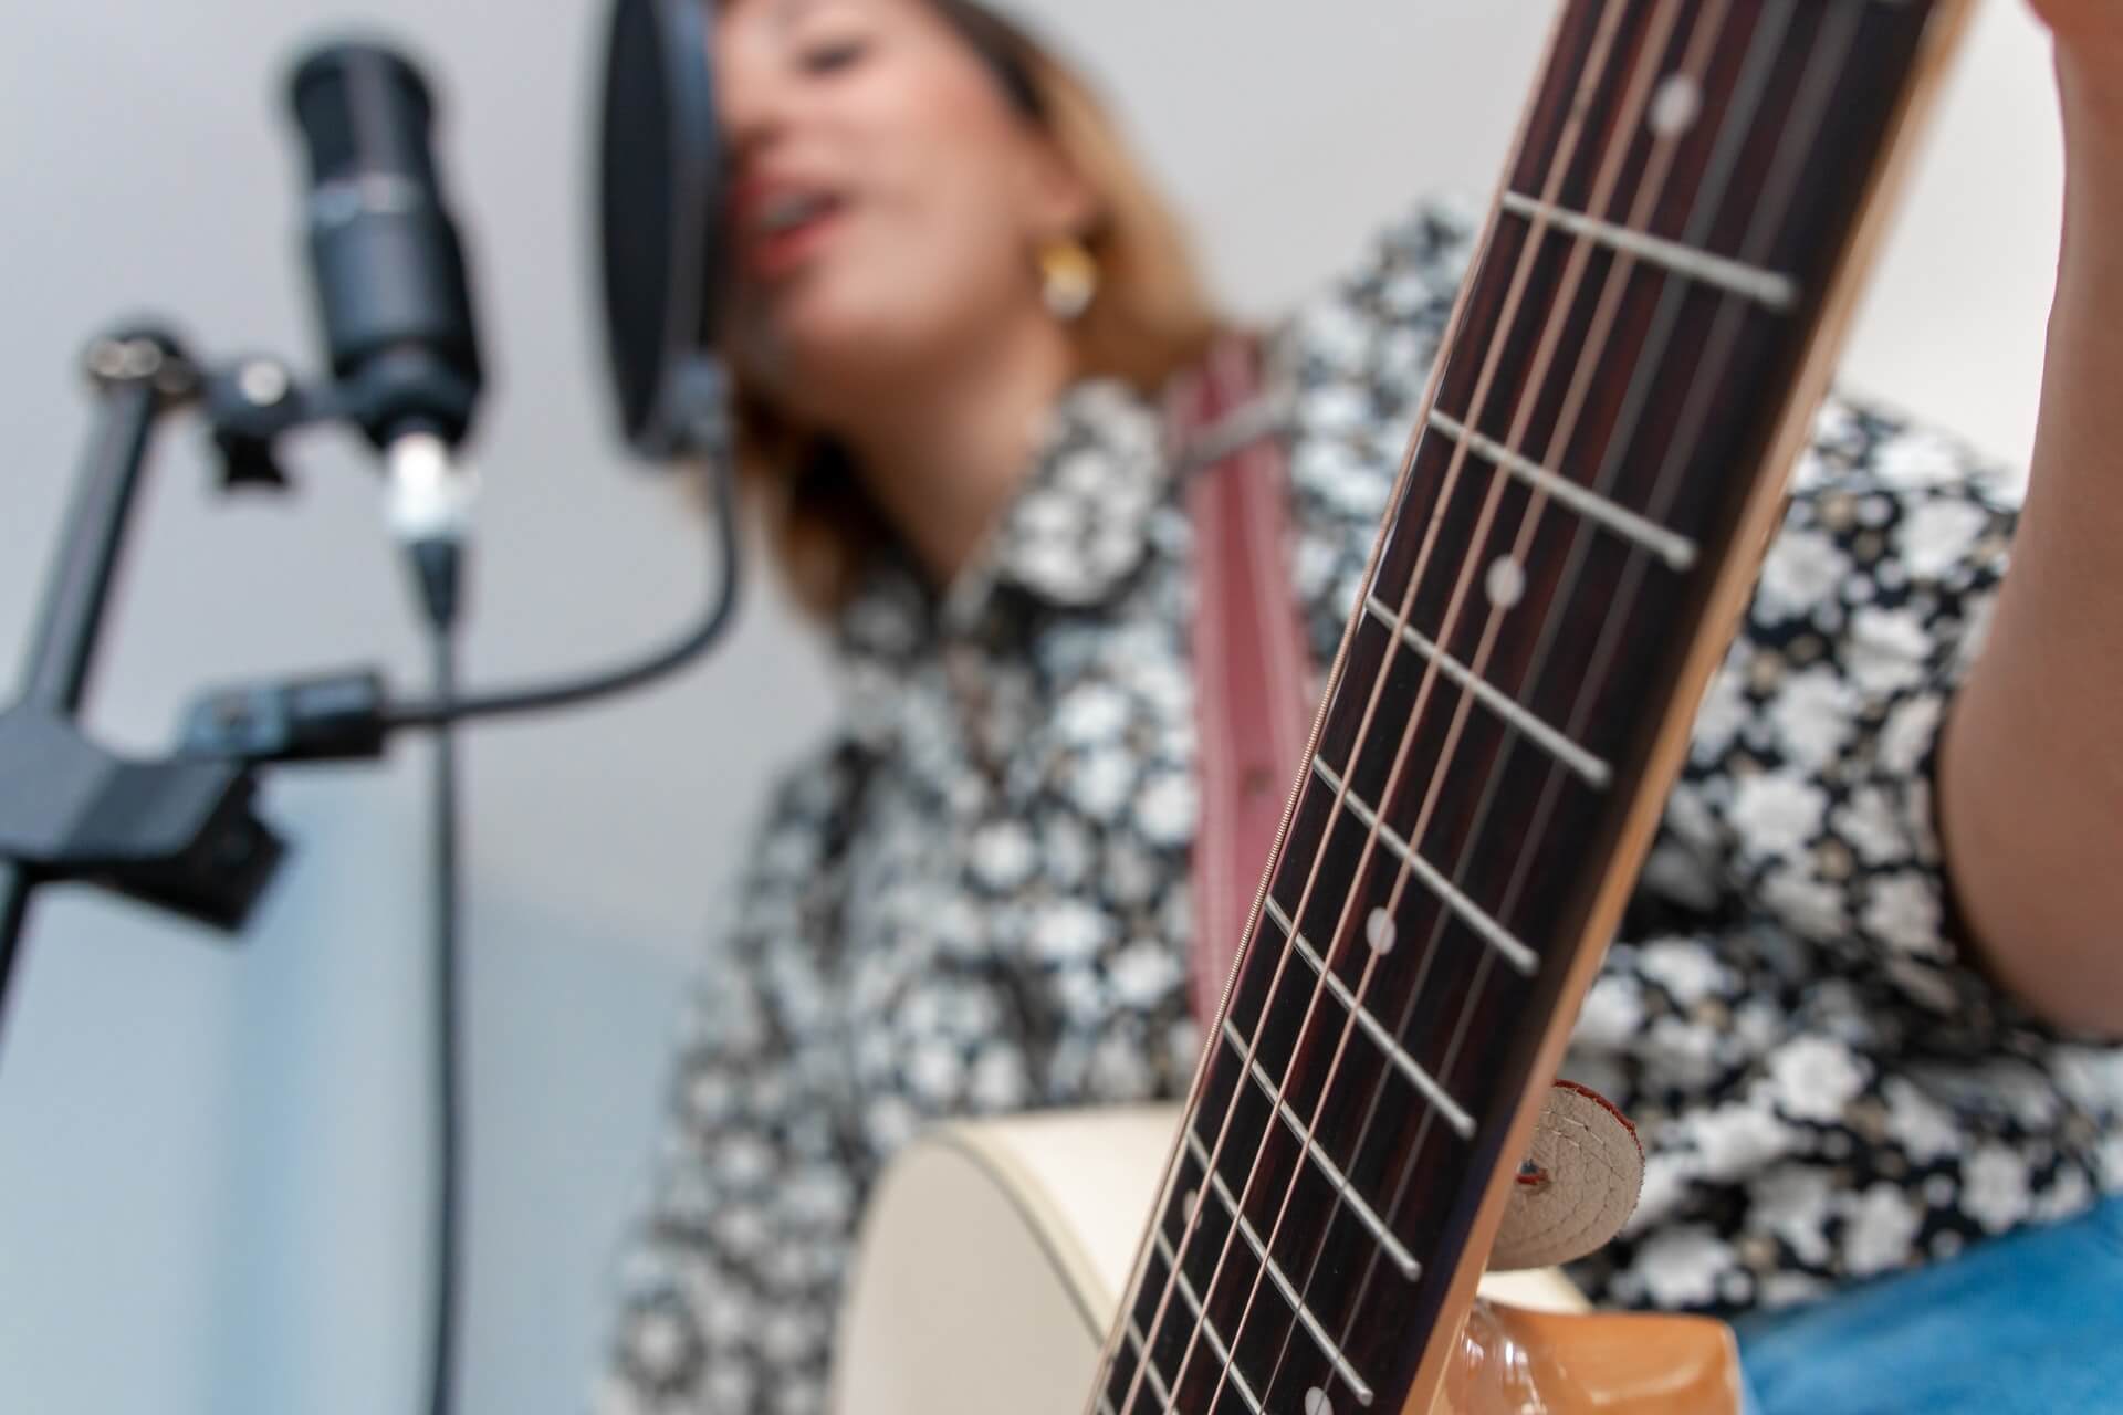
[[[2091,1409],[2123,1379],[2123,6],[2036,8],[2070,195],[2025,505],[1830,399],[1573,1037],[1650,1165],[1573,1277],[1734,1317],[1768,1411]],[[968,0],[715,25],[743,471],[845,700],[688,1020],[611,1415],[824,1409],[900,1146],[1178,1099],[1199,1048],[1159,392],[1219,322],[1176,225],[1087,89]],[[1321,672],[1475,235],[1422,206],[1265,342]],[[1923,1339],[1909,1311],[1977,1315]]]

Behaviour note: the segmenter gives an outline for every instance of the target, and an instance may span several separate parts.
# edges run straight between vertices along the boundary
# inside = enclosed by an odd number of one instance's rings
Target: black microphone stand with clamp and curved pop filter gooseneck
[[[202,369],[153,325],[93,339],[83,365],[96,422],[32,626],[21,696],[0,709],[0,1029],[40,887],[98,885],[236,933],[284,855],[280,838],[253,813],[261,768],[376,759],[399,730],[554,711],[645,687],[696,662],[730,626],[739,518],[722,382],[705,367],[703,405],[675,452],[705,456],[711,467],[718,566],[703,617],[675,643],[565,681],[427,702],[393,700],[376,668],[229,685],[193,700],[172,755],[123,759],[93,743],[79,719],[161,418],[197,405],[219,450],[223,490],[278,492],[289,490],[276,458],[284,433],[361,422],[391,390],[359,380],[299,382],[276,359]]]

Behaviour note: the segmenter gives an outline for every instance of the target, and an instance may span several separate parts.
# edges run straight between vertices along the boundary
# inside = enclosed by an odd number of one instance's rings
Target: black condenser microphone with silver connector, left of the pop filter
[[[412,59],[363,42],[310,53],[289,100],[310,165],[310,269],[335,392],[386,456],[391,526],[444,622],[471,499],[450,454],[484,378],[465,250],[429,144],[435,104]]]

